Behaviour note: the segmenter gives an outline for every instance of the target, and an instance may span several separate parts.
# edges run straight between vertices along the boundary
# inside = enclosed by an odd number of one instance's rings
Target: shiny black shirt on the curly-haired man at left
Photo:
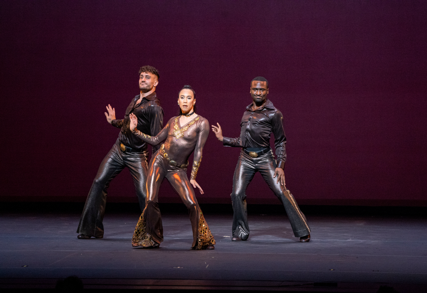
[[[132,102],[126,109],[124,119],[112,120],[111,125],[121,128],[119,139],[123,145],[137,151],[146,151],[147,143],[137,138],[129,129],[129,114],[134,113],[137,116],[137,128],[140,131],[151,136],[156,136],[163,128],[163,109],[160,107],[160,100],[157,98],[155,92],[142,98],[141,102],[136,104],[139,98],[140,95],[137,95],[135,99],[132,99]],[[160,145],[153,145],[153,153],[159,148]]]

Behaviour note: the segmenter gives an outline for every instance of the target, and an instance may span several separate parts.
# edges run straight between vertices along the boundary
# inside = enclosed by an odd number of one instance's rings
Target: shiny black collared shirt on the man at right
[[[274,145],[277,156],[277,167],[284,168],[286,162],[286,136],[283,130],[283,115],[267,99],[266,104],[252,110],[252,104],[246,107],[240,122],[240,137],[224,137],[222,144],[243,148],[268,148],[270,135],[274,134]]]

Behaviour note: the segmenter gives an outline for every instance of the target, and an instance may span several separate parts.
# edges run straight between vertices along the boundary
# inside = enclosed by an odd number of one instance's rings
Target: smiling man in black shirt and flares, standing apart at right
[[[247,240],[249,237],[248,212],[246,209],[246,188],[259,171],[269,188],[283,203],[295,237],[301,242],[310,241],[310,228],[294,197],[285,186],[283,168],[286,161],[286,136],[283,130],[283,116],[267,99],[268,81],[258,76],[251,81],[252,104],[246,107],[240,122],[240,137],[222,136],[219,123],[212,125],[212,131],[223,145],[240,147],[240,157],[233,178],[233,238],[232,241]],[[277,160],[270,148],[270,134],[274,134]],[[277,179],[275,179],[277,177]]]

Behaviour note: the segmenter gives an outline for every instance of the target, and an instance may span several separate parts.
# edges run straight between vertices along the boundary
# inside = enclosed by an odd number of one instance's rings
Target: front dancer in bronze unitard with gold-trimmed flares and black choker
[[[158,191],[164,177],[169,180],[187,206],[193,228],[191,249],[214,249],[215,240],[203,217],[194,194],[202,188],[196,182],[197,171],[202,161],[202,150],[209,134],[207,119],[195,113],[196,93],[186,85],[179,92],[180,116],[172,117],[157,136],[146,135],[136,129],[137,118],[130,115],[131,131],[151,145],[158,145],[166,139],[160,149],[153,154],[147,174],[147,198],[132,237],[133,247],[159,247],[163,241],[163,226],[158,208]],[[182,126],[181,126],[182,125]],[[191,180],[188,181],[188,157],[194,151]],[[193,187],[191,187],[193,185]]]

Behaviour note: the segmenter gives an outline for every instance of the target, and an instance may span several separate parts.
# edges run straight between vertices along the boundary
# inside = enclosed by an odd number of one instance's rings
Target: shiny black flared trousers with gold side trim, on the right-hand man
[[[304,214],[298,207],[294,197],[286,186],[277,183],[277,176],[273,178],[276,169],[276,160],[272,151],[252,158],[245,152],[240,151],[239,160],[233,177],[233,193],[231,200],[233,203],[233,237],[240,237],[243,240],[249,237],[248,212],[246,209],[246,188],[254,178],[256,172],[260,172],[269,188],[283,203],[295,237],[302,237],[310,234],[310,228]]]

